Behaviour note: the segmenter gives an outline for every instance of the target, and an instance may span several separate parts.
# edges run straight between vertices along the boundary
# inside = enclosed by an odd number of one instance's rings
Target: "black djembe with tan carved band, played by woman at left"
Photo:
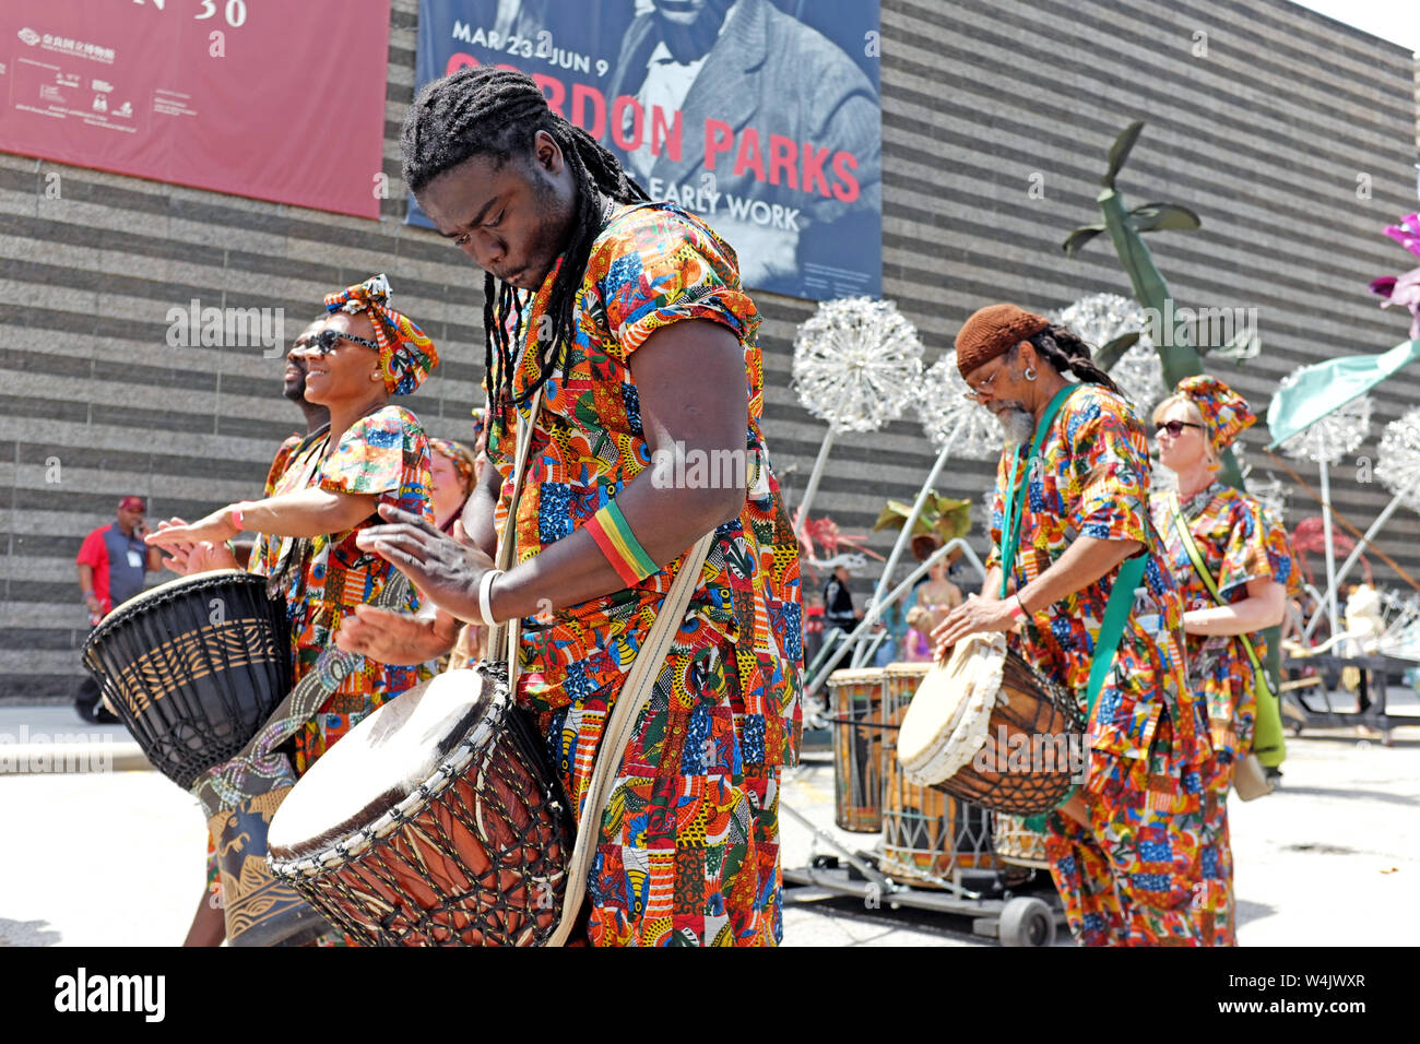
[[[84,666],[143,754],[183,790],[240,751],[291,689],[291,628],[266,578],[169,581],[94,628]]]

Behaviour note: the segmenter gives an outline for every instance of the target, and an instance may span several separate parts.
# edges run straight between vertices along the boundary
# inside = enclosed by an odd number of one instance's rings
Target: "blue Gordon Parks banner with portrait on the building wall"
[[[747,287],[882,290],[878,0],[422,0],[417,87],[530,74],[653,199],[701,216]],[[429,226],[410,200],[409,220]]]

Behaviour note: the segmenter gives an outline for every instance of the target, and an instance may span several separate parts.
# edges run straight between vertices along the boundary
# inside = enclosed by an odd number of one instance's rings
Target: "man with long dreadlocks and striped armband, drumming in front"
[[[777,943],[799,574],[760,433],[760,320],[736,254],[697,217],[649,202],[521,72],[427,85],[402,146],[425,213],[487,273],[494,467],[463,518],[476,548],[399,511],[364,541],[460,619],[484,619],[481,607],[487,622],[524,618],[517,699],[540,712],[579,830],[598,831],[589,942]],[[510,518],[518,412],[534,428]],[[657,455],[750,463],[666,487]],[[496,530],[517,541],[507,572],[491,570]],[[711,530],[606,811],[589,822],[604,720],[686,548]]]

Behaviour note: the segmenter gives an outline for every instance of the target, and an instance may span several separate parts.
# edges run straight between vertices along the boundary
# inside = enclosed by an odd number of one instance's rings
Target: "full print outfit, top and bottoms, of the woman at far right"
[[[1193,558],[1173,521],[1170,497],[1149,497],[1154,528],[1162,534],[1164,554],[1183,598],[1184,611],[1207,609],[1217,602],[1193,567]],[[1287,531],[1247,493],[1214,482],[1201,493],[1181,501],[1193,543],[1198,547],[1218,592],[1227,602],[1248,597],[1251,580],[1275,580],[1296,585],[1292,550]],[[1261,634],[1250,635],[1258,660],[1265,662],[1267,643]],[[1216,766],[1206,781],[1204,812],[1210,817],[1216,858],[1206,862],[1206,892],[1200,909],[1213,912],[1213,939],[1218,946],[1237,942],[1233,902],[1233,847],[1228,834],[1227,797],[1238,760],[1252,750],[1257,726],[1257,693],[1252,663],[1237,636],[1186,635],[1189,685],[1204,702],[1213,740]]]

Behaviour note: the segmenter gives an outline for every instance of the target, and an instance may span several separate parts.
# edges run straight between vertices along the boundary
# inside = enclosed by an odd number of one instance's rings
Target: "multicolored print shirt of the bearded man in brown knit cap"
[[[1129,761],[1149,758],[1160,714],[1172,722],[1167,773],[1173,787],[1197,798],[1198,767],[1208,760],[1207,724],[1184,678],[1181,602],[1149,520],[1149,443],[1129,403],[1098,385],[1079,385],[1061,406],[1041,443],[1039,462],[1025,462],[1028,446],[1014,447],[1022,460],[1027,496],[1021,543],[1012,575],[1024,587],[1048,570],[1076,537],[1136,540],[1145,545],[1143,587],[1119,641],[1112,672],[1100,687],[1088,730],[1092,750],[1089,787],[1122,785]],[[1001,562],[1004,493],[1012,447],[1001,453],[991,510],[991,554],[987,568]],[[1085,706],[1095,639],[1113,589],[1118,567],[1093,584],[1039,608],[1024,628],[1008,636],[1021,655],[1065,685]],[[1100,763],[1099,756],[1105,756]],[[1150,780],[1150,788],[1169,790]]]

